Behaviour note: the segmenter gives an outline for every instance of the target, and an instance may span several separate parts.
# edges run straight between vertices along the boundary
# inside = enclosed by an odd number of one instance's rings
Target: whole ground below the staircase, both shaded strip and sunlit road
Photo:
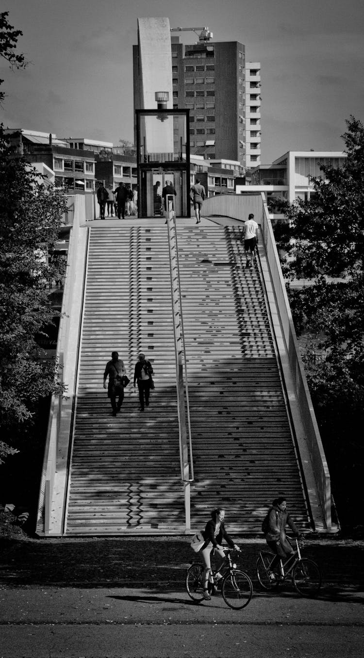
[[[183,588],[186,538],[0,542],[0,658],[361,658],[363,542],[317,540],[319,599],[259,592],[262,540],[237,540],[253,577],[248,607],[194,605]]]

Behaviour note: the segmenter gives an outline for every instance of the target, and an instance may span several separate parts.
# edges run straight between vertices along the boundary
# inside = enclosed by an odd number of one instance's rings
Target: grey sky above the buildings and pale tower
[[[262,163],[288,150],[342,149],[364,120],[362,0],[0,0],[30,65],[0,63],[5,126],[58,137],[133,141],[132,45],[138,16],[208,26],[261,63]],[[194,43],[193,32],[184,33]]]

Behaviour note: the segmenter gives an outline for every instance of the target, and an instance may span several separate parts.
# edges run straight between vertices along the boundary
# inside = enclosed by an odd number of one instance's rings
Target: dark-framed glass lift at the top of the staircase
[[[172,183],[178,217],[190,217],[190,111],[136,110],[138,216],[163,215],[162,190]]]

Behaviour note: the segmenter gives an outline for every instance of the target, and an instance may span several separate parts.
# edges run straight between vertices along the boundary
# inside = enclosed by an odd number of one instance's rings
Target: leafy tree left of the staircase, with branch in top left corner
[[[20,30],[0,14],[0,55],[14,66]],[[0,127],[0,463],[36,436],[39,401],[62,392],[55,361],[39,361],[36,336],[55,312],[47,283],[57,265],[48,253],[58,237],[65,200],[46,188],[24,158],[14,155]],[[53,271],[54,270],[54,271]]]

